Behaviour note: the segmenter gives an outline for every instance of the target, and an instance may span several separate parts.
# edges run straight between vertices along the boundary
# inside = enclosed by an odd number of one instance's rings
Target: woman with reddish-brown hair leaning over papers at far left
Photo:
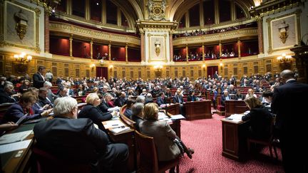
[[[36,99],[37,96],[31,92],[27,92],[21,95],[19,103],[11,105],[11,107],[6,111],[2,122],[17,122],[19,118],[26,114],[28,116],[26,116],[24,121],[48,116],[51,110],[43,110],[40,113],[34,112],[32,106],[34,105],[34,103],[36,103]]]

